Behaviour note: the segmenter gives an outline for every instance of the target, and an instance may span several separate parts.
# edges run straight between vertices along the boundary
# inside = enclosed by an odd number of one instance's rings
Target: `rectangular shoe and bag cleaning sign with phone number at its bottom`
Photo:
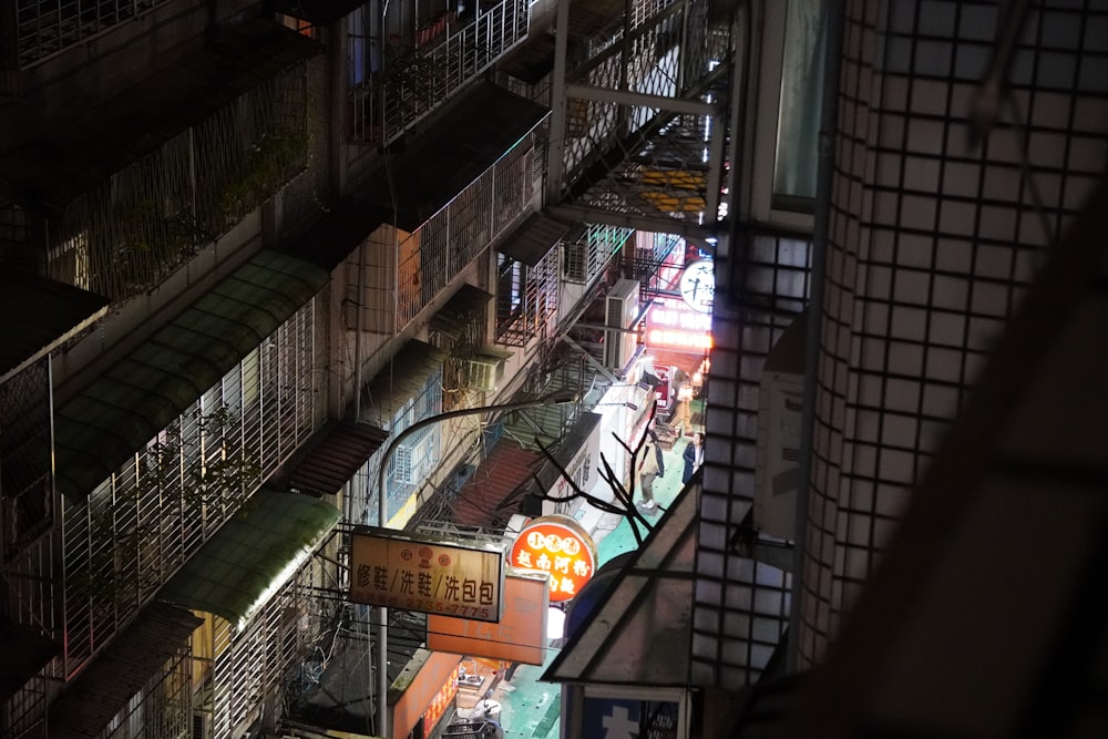
[[[350,601],[371,606],[500,620],[504,552],[389,528],[358,527],[350,551]]]

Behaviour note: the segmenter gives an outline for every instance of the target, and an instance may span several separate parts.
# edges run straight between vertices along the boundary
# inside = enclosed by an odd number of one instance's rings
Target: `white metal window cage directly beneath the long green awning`
[[[59,676],[110,639],[315,430],[314,312],[297,311],[66,512]]]

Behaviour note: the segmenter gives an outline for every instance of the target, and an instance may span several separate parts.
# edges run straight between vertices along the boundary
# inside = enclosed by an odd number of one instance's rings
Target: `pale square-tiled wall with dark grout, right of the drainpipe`
[[[1108,152],[1108,8],[1032,3],[968,120],[996,3],[848,3],[799,649],[819,661],[913,481]]]

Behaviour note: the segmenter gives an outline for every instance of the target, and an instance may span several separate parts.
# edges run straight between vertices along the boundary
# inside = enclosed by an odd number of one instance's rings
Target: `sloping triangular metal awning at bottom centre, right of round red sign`
[[[696,503],[686,486],[542,680],[687,687]]]

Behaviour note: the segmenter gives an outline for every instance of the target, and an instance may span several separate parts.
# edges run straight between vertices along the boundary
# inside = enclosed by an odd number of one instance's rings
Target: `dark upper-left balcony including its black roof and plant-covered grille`
[[[306,60],[271,21],[226,30],[102,105],[0,153],[6,257],[122,304],[307,164]]]

